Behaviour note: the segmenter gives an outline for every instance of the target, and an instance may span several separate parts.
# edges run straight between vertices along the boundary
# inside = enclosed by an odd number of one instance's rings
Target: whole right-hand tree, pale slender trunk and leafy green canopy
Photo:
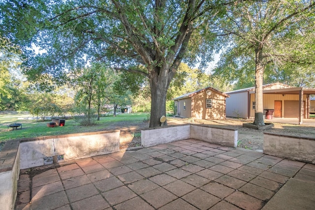
[[[255,69],[255,125],[264,125],[265,69],[314,62],[314,46],[296,40],[314,40],[314,14],[315,2],[311,0],[236,1],[227,6],[224,18],[217,23],[222,33],[228,34],[222,39],[227,45],[217,73],[243,79],[242,75],[253,76],[251,69]]]

